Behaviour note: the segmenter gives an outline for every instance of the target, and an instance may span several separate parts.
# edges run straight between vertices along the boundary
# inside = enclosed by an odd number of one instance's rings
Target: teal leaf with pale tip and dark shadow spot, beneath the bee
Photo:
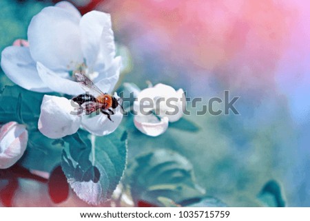
[[[89,204],[110,199],[125,169],[127,132],[95,137],[80,130],[63,140],[61,167],[76,195]]]

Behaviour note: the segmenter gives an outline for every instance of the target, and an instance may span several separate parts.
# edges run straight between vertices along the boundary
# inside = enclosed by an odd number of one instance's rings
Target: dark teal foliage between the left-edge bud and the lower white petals
[[[49,172],[59,164],[63,145],[43,136],[37,128],[43,96],[17,85],[6,86],[0,94],[0,122],[17,121],[26,125],[29,138],[21,165]]]

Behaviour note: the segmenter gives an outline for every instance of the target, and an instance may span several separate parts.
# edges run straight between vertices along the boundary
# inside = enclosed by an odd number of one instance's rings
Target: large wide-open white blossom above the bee
[[[107,93],[118,81],[121,57],[115,57],[110,14],[91,11],[81,17],[71,3],[61,1],[32,18],[28,42],[29,47],[15,43],[1,54],[8,78],[27,90],[81,94],[73,75],[77,71]]]

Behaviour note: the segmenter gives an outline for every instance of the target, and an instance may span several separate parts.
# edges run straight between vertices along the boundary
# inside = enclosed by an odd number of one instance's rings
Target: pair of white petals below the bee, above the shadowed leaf
[[[117,97],[116,94],[114,96]],[[113,121],[99,113],[95,116],[81,116],[76,109],[78,105],[72,100],[58,96],[45,95],[41,104],[38,128],[48,138],[62,138],[76,133],[83,127],[96,136],[112,133],[121,123],[123,114],[116,107]]]

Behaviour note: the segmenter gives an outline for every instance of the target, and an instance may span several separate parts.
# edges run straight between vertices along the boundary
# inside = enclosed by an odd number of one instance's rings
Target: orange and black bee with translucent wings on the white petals
[[[115,114],[115,109],[118,105],[123,109],[121,105],[121,98],[116,98],[110,94],[102,92],[94,83],[87,78],[85,74],[75,73],[77,82],[80,83],[81,87],[85,92],[90,92],[90,94],[80,94],[72,98],[72,101],[79,104],[79,115],[85,112],[86,115],[91,114],[100,110],[102,114],[105,114],[109,120],[111,115]],[[124,111],[124,109],[123,109]]]

